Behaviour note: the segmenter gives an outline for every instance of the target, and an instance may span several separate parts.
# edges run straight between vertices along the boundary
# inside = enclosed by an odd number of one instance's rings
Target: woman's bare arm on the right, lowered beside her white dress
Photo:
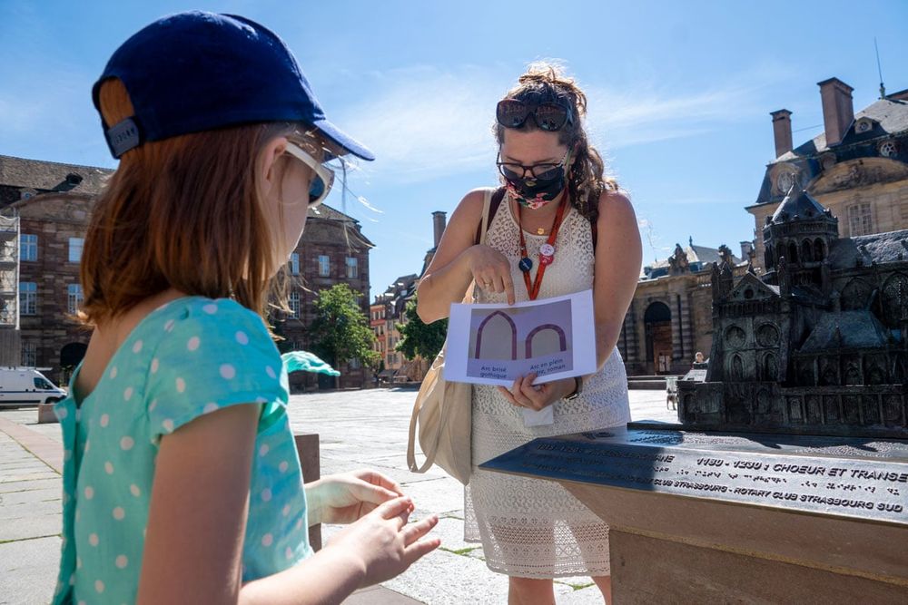
[[[597,231],[593,299],[597,367],[601,368],[615,350],[643,260],[637,216],[627,196],[620,192],[602,194]]]

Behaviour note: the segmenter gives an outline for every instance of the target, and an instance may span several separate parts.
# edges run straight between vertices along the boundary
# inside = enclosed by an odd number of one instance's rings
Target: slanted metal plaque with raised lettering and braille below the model
[[[908,525],[898,440],[616,428],[539,438],[480,467]]]

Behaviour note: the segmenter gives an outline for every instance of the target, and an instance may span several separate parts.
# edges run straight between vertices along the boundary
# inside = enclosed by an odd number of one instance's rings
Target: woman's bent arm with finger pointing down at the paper
[[[498,250],[476,245],[482,218],[483,190],[470,191],[451,215],[439,248],[417,288],[417,313],[427,324],[448,317],[451,303],[460,302],[473,278],[490,281],[487,288],[507,292],[514,302],[514,282],[508,259]]]

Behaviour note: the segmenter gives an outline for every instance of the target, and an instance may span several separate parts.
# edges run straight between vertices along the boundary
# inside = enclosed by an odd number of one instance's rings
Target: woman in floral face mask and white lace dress
[[[556,67],[531,65],[498,102],[498,169],[506,194],[476,243],[484,192],[451,217],[419,284],[419,317],[447,317],[470,282],[477,301],[512,304],[593,289],[597,372],[533,385],[473,386],[473,462],[530,439],[625,424],[627,377],[615,348],[640,274],[637,219],[582,119],[587,99]],[[493,204],[494,206],[494,204]],[[528,426],[524,410],[553,406],[554,423]],[[510,603],[550,603],[552,579],[590,575],[610,602],[607,526],[558,483],[474,469],[466,489],[467,540],[481,540],[492,571],[509,576]]]

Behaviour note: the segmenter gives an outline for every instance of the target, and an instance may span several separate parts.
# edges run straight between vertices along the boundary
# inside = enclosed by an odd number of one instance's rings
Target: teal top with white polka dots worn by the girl
[[[76,376],[78,368],[70,394]],[[262,405],[242,580],[309,556],[287,394],[287,373],[262,318],[239,303],[180,298],[144,317],[81,405],[71,395],[54,407],[64,438],[54,603],[135,600],[161,437],[228,405]]]

